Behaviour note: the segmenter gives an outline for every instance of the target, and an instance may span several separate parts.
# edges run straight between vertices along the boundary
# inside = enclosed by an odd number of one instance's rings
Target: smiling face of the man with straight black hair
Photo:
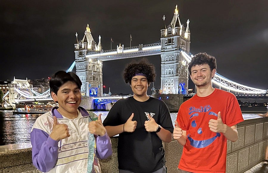
[[[76,118],[77,108],[81,103],[81,92],[76,83],[68,81],[60,86],[57,94],[51,92],[52,98],[58,102],[59,108],[57,109],[63,116],[73,119]]]

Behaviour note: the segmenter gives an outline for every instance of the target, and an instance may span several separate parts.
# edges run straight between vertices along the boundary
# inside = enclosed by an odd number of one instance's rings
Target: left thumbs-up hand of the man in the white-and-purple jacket
[[[55,141],[68,138],[70,136],[67,124],[58,124],[57,117],[53,116],[53,129],[50,138]]]

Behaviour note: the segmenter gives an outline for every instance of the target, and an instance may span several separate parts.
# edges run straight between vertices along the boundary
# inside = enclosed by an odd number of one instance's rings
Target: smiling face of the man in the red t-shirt
[[[191,68],[191,80],[194,84],[200,87],[211,85],[211,77],[214,77],[216,69],[210,71],[208,64],[195,65]]]

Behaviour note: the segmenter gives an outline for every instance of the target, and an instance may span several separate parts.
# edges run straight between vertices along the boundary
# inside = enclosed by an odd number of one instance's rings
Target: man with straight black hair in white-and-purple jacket
[[[59,107],[38,117],[30,134],[33,164],[42,172],[99,173],[99,158],[112,154],[101,114],[79,107],[81,85],[74,72],[58,71],[49,81]]]

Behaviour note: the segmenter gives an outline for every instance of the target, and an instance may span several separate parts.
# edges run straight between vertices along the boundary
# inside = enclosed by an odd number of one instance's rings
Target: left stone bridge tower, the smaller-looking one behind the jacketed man
[[[102,51],[101,36],[99,43],[94,41],[89,26],[86,27],[84,38],[77,39],[74,44],[76,74],[82,81],[82,96],[102,96],[102,61],[91,60],[89,52]]]

